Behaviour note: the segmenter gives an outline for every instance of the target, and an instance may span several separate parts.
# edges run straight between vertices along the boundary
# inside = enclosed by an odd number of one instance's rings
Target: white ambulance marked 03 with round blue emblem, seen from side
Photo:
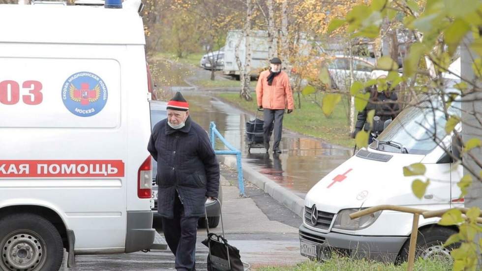
[[[0,5],[0,270],[151,247],[138,8]]]

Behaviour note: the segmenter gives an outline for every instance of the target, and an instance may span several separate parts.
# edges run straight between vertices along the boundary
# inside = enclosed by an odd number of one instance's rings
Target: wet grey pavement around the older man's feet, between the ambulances
[[[306,258],[300,255],[298,228],[300,219],[293,218],[291,211],[276,206],[270,197],[255,200],[240,198],[239,189],[234,185],[235,178],[226,168],[222,170],[223,218],[226,239],[240,250],[241,260],[251,269],[262,266],[296,265]],[[229,179],[226,180],[224,176]],[[249,189],[249,188],[248,188]],[[255,191],[257,188],[251,188]],[[259,189],[258,189],[259,190]],[[253,192],[251,192],[253,193]],[[271,207],[271,211],[263,208]],[[273,211],[273,208],[274,211]],[[266,213],[265,213],[266,212]],[[273,216],[275,217],[273,219]],[[290,219],[291,218],[291,219]],[[288,223],[280,222],[291,220]],[[290,225],[291,224],[291,225]],[[154,225],[155,226],[155,225]],[[160,229],[157,229],[162,236]],[[211,231],[220,233],[221,225]],[[206,270],[208,249],[201,241],[206,238],[206,230],[198,229],[196,244],[196,270]],[[66,254],[64,255],[66,259]],[[174,256],[170,250],[155,250],[149,253],[135,252],[113,255],[79,255],[75,268],[61,271],[163,271],[174,270]]]

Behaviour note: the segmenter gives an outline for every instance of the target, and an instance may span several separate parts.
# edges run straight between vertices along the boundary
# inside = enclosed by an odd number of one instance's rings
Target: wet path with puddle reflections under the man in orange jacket
[[[245,161],[302,198],[313,185],[352,154],[350,150],[290,132],[283,132],[280,144],[283,153],[273,155],[266,153],[265,149],[251,149],[248,153],[245,122],[253,120],[254,116],[207,95],[185,92],[184,97],[189,102],[193,120],[208,131],[210,121],[214,121],[225,139],[233,147],[241,149]],[[220,140],[216,140],[216,149],[225,149]]]

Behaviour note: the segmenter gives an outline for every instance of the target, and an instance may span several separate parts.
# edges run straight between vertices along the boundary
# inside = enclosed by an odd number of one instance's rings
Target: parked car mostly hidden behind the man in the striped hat
[[[151,105],[151,130],[152,130],[152,128],[157,122],[164,120],[167,117],[167,109],[166,109],[167,103],[151,100],[150,105]],[[157,172],[157,163],[154,159],[152,159],[152,201],[154,201],[154,204],[151,204],[151,206],[153,206],[152,211],[155,211],[154,215],[157,215],[157,184],[155,183],[156,172]],[[222,193],[221,184],[219,184],[219,202],[222,204],[222,201],[223,201],[223,193]],[[211,201],[211,200],[206,201],[206,211],[208,213],[208,221],[209,221],[210,228],[215,228],[219,224],[219,212],[221,210],[219,206],[219,202]],[[201,217],[199,219],[198,226],[200,228],[206,227],[206,219],[204,217]]]

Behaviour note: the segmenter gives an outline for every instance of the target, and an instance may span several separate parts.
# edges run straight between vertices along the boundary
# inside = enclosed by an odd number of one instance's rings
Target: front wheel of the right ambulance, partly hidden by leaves
[[[457,231],[446,228],[434,226],[419,231],[417,235],[417,248],[415,250],[415,260],[419,257],[423,259],[437,258],[445,259],[446,261],[452,261],[450,251],[459,246],[459,243],[451,244],[447,247],[443,247],[443,243]],[[399,254],[399,262],[408,261],[408,250],[410,247],[410,238],[405,241]]]

